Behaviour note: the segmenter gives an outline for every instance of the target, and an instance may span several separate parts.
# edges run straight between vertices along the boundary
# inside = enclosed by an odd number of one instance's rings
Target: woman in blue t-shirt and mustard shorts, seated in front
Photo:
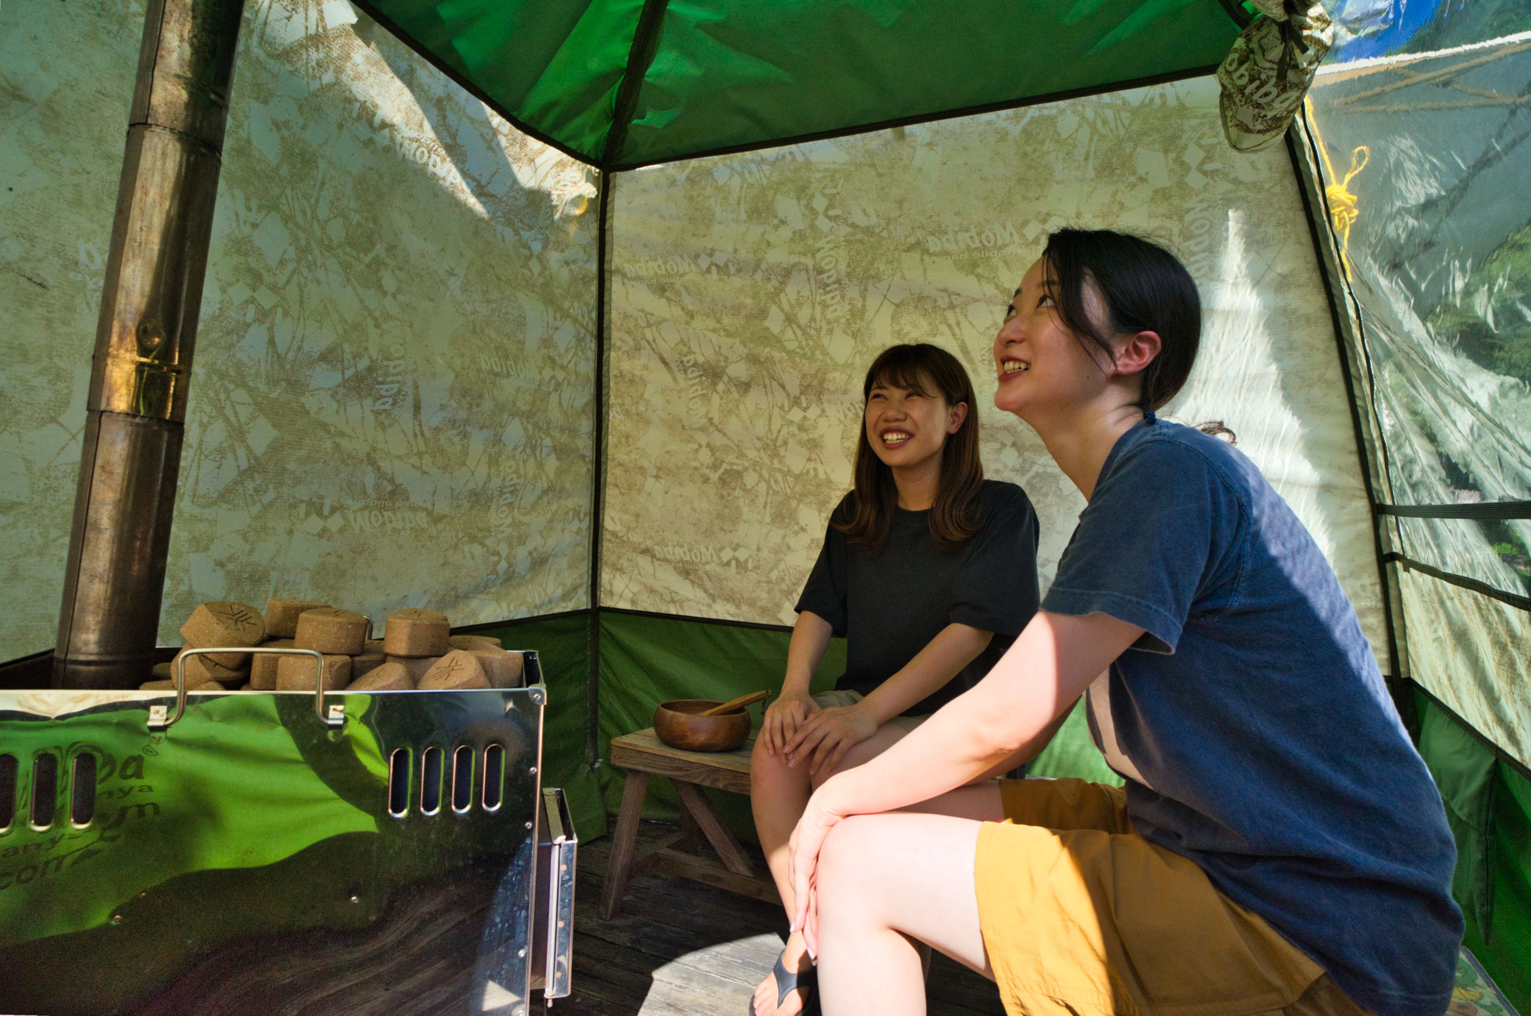
[[[795,927],[830,1016],[923,1013],[916,943],[1012,1016],[1445,1011],[1441,797],[1301,522],[1229,442],[1154,416],[1199,337],[1185,268],[1118,233],[1052,234],[1006,308],[995,405],[1087,506],[989,675],[810,799]],[[1081,695],[1125,788],[975,783]]]

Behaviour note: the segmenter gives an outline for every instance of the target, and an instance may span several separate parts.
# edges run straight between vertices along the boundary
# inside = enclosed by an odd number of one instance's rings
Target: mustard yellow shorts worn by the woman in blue
[[[978,923],[1009,1016],[1363,1016],[1323,967],[1133,831],[1127,794],[1000,780]]]

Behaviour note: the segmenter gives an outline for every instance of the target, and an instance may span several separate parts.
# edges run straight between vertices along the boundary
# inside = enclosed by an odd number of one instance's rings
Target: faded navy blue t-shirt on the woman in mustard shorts
[[[1340,581],[1255,465],[1150,415],[1105,459],[1043,609],[1145,632],[1089,693],[1144,839],[1361,1005],[1441,1016],[1462,939],[1441,796]]]

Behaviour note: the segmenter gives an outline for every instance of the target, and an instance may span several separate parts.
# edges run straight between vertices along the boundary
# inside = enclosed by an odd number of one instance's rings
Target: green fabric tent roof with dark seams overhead
[[[1205,72],[1232,0],[367,0],[517,127],[625,168]]]

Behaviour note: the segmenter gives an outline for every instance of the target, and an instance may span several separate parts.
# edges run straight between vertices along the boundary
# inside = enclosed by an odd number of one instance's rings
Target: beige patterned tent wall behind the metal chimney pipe
[[[141,24],[0,8],[0,659],[57,632]],[[594,194],[349,3],[248,6],[162,641],[211,598],[586,606]]]

